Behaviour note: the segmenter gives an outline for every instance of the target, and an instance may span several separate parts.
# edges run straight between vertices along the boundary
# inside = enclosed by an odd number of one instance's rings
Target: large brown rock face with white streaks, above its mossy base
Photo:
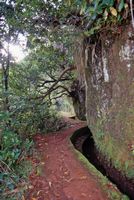
[[[134,145],[132,142],[134,141],[134,30],[132,27],[127,25],[121,28],[118,34],[103,33],[87,40],[85,61],[88,126],[98,148],[111,158],[110,154],[117,155],[117,152],[113,153],[113,144],[120,144],[123,153],[129,151],[129,147]],[[107,145],[110,138],[113,142],[111,147]],[[126,160],[133,159],[129,153]]]

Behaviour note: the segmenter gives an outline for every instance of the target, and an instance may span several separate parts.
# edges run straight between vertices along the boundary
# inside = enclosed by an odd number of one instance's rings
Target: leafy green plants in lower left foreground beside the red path
[[[22,140],[16,133],[3,130],[0,143],[0,195],[2,199],[21,198],[25,190],[24,184],[17,189],[27,178],[30,164],[25,161],[25,156],[30,151],[33,142]],[[26,186],[26,185],[25,185]],[[10,191],[17,190],[15,194]]]

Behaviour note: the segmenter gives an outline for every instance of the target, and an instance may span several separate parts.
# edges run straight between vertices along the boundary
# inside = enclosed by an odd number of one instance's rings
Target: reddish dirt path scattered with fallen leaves
[[[97,180],[77,159],[69,138],[85,123],[70,120],[70,127],[35,136],[38,158],[30,175],[26,200],[107,200]]]

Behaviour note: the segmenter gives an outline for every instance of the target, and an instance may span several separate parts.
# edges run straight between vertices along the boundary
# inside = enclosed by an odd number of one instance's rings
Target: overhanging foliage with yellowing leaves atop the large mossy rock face
[[[125,0],[75,0],[76,7],[80,10],[86,22],[84,34],[91,36],[102,28],[109,28],[112,24],[120,24],[128,17],[128,2]]]

